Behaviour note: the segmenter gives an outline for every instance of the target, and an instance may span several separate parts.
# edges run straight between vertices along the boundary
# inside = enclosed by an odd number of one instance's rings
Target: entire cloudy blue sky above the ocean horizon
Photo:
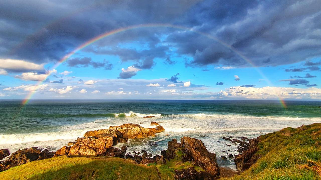
[[[321,100],[321,3],[3,0],[0,99]]]

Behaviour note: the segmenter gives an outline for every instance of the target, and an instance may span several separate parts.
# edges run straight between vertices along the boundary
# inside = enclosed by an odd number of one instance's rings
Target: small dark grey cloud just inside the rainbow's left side
[[[105,70],[111,70],[112,64],[109,63],[109,61],[106,61],[104,59],[103,62],[96,62],[92,61],[90,57],[83,57],[83,58],[72,58],[69,59],[67,62],[67,65],[70,67],[88,67],[91,65],[93,68],[102,68],[104,67]]]

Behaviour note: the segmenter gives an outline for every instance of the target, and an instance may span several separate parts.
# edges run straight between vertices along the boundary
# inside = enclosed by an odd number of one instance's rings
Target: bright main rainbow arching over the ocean
[[[99,41],[100,39],[103,39],[105,37],[120,33],[120,32],[124,32],[127,30],[131,30],[131,29],[139,29],[139,28],[174,28],[174,29],[181,29],[181,30],[185,30],[185,31],[191,31],[194,33],[197,33],[199,35],[208,37],[209,39],[213,39],[214,41],[220,43],[221,45],[225,46],[226,48],[232,50],[233,52],[235,52],[237,55],[239,55],[239,57],[241,57],[242,59],[244,59],[245,61],[247,61],[247,63],[249,63],[252,67],[254,67],[256,69],[256,71],[265,79],[265,81],[270,85],[273,86],[273,84],[271,83],[271,81],[263,74],[263,72],[257,68],[257,66],[247,57],[245,57],[242,53],[240,53],[238,50],[236,50],[235,48],[233,48],[232,46],[226,44],[225,42],[221,41],[220,39],[218,39],[217,37],[214,37],[210,34],[204,33],[204,32],[200,32],[197,31],[195,29],[192,28],[187,28],[184,26],[178,26],[178,25],[172,25],[172,24],[141,24],[141,25],[134,25],[134,26],[128,26],[126,28],[119,28],[119,29],[115,29],[112,31],[108,31],[104,34],[101,34],[97,37],[94,37],[92,39],[90,39],[89,41],[83,43],[82,45],[78,46],[76,49],[74,49],[73,51],[71,51],[70,53],[66,54],[62,59],[60,59],[54,66],[52,69],[57,68],[61,63],[65,62],[68,58],[70,58],[72,55],[74,55],[74,53],[82,50],[83,48],[87,47],[88,45],[91,45],[92,43],[95,43],[96,41]],[[47,74],[47,77],[50,75],[50,72]],[[34,91],[30,91],[30,93],[26,96],[26,98],[22,101],[22,106],[26,105],[29,100],[31,99],[32,95],[36,92],[37,87],[39,85],[41,85],[46,79],[47,77],[43,80],[43,81],[39,81],[36,85],[36,89]],[[284,100],[281,97],[278,97],[280,99],[280,103],[283,106],[283,108],[286,108],[286,104],[284,102]]]

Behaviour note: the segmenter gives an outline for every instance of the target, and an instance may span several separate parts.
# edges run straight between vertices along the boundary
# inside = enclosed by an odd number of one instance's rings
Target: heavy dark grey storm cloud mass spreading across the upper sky
[[[106,37],[83,51],[117,55],[122,61],[134,61],[133,65],[141,69],[152,68],[154,58],[171,64],[167,59],[170,45],[178,55],[189,56],[186,65],[192,67],[276,66],[306,61],[309,67],[305,70],[320,70],[317,62],[307,61],[321,54],[321,36],[317,33],[321,28],[321,4],[317,0],[181,0],[171,1],[170,5],[168,1],[147,0],[4,0],[0,12],[0,58],[58,61],[82,43],[110,30],[169,23],[206,33],[225,45],[188,30],[139,28]],[[133,42],[146,48],[116,48]],[[99,62],[91,65],[111,68]]]

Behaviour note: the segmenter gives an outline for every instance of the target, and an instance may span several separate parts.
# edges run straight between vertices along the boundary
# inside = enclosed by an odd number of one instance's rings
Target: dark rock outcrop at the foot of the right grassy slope
[[[258,151],[258,142],[259,138],[250,139],[247,150],[243,151],[242,154],[235,156],[234,162],[239,172],[243,172],[244,170],[250,168],[260,158],[255,154],[256,151]]]

